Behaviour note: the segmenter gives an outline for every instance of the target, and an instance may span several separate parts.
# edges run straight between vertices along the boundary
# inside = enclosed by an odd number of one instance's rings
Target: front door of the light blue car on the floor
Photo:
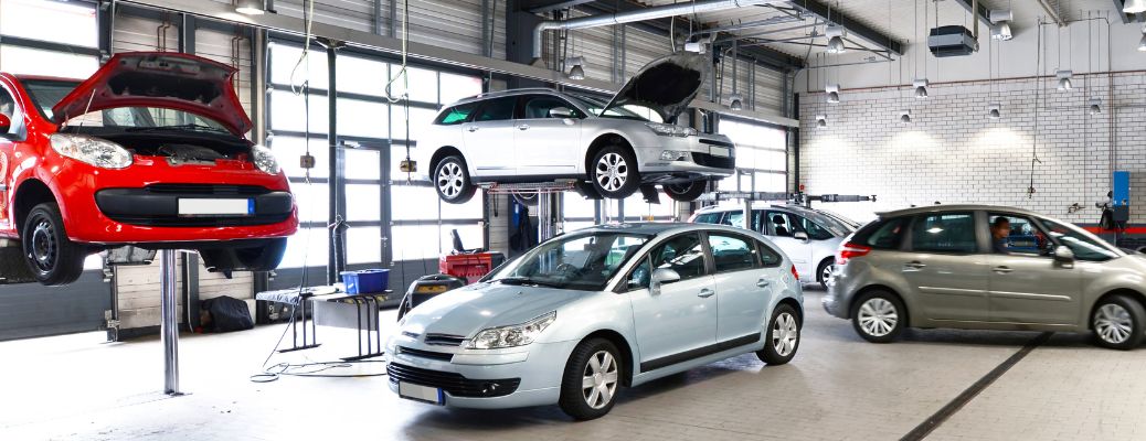
[[[697,233],[668,238],[646,257],[647,274],[630,283],[633,325],[641,349],[641,371],[684,361],[686,353],[712,346],[716,341],[716,297],[713,276],[708,274],[704,244]],[[681,279],[649,286],[649,277],[659,268],[672,269]]]

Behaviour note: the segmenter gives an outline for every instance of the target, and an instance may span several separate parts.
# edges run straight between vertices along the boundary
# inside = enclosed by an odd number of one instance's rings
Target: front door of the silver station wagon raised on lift
[[[531,176],[571,176],[581,157],[580,110],[554,95],[527,95],[523,113],[513,120],[513,145],[518,174]],[[550,110],[568,109],[570,118],[555,118]]]

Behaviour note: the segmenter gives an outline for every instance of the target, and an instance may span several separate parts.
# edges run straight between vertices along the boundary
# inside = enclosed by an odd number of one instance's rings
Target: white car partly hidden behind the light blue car
[[[744,228],[744,208],[714,205],[692,214],[689,222],[721,223]],[[795,266],[804,282],[818,282],[825,289],[835,265],[835,250],[855,233],[858,223],[800,205],[754,205],[752,229],[768,236]]]

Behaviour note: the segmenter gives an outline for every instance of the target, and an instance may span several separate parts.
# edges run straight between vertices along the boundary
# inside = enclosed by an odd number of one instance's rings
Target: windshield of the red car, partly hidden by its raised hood
[[[52,119],[52,108],[68,96],[79,82],[61,80],[24,80],[24,89],[46,119]],[[126,107],[104,109],[71,118],[71,126],[87,127],[126,127],[129,131],[196,131],[229,133],[222,125],[212,119],[180,110]]]

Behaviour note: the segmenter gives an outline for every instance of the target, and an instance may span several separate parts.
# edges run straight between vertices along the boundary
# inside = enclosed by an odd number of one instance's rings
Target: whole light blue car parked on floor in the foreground
[[[754,352],[787,363],[803,293],[763,236],[691,223],[558,236],[410,310],[386,341],[390,387],[460,408],[612,409],[621,386]]]

